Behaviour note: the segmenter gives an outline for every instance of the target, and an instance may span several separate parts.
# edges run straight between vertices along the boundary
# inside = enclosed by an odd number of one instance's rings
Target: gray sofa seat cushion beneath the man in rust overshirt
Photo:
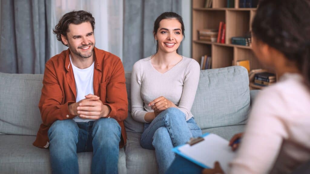
[[[0,135],[0,173],[51,173],[48,149],[32,145],[35,136]],[[92,152],[78,153],[79,173],[91,172]],[[126,173],[124,149],[118,157],[118,173]]]

